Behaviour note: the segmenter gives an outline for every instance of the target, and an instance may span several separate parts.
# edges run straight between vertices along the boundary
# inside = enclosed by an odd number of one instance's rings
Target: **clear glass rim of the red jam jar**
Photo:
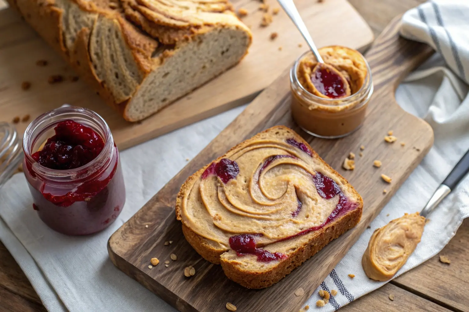
[[[53,120],[51,122],[51,120]],[[51,169],[40,165],[36,160],[32,158],[31,148],[36,144],[36,139],[43,134],[45,131],[55,127],[58,123],[64,120],[74,120],[80,122],[80,120],[92,122],[95,127],[98,127],[100,136],[105,141],[104,147],[99,152],[98,156],[91,160],[89,163],[77,167],[74,169],[58,170]],[[88,125],[87,125],[88,126]],[[91,128],[94,128],[91,126]],[[77,106],[60,107],[57,109],[50,110],[44,114],[35,118],[24,131],[23,136],[23,152],[25,160],[30,164],[31,169],[35,174],[39,174],[42,177],[47,177],[48,180],[52,181],[69,181],[67,179],[73,178],[74,181],[78,178],[79,180],[88,178],[91,174],[95,174],[99,168],[103,167],[107,162],[111,160],[109,154],[113,153],[114,140],[106,121],[91,109],[86,109]],[[25,170],[27,170],[25,168]]]

